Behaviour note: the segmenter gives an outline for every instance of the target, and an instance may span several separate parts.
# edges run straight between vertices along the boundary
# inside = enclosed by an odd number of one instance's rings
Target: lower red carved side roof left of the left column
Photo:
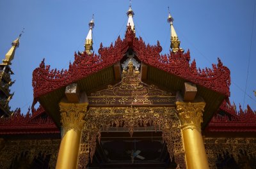
[[[1,135],[38,133],[60,133],[41,106],[32,108],[31,113],[29,109],[26,115],[20,114],[20,109],[17,109],[12,116],[0,119]]]

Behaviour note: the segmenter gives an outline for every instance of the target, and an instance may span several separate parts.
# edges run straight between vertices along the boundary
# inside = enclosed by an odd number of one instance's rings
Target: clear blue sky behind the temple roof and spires
[[[211,64],[216,64],[217,57],[220,57],[231,71],[230,100],[237,105],[241,103],[242,107],[244,103],[244,108],[249,104],[256,110],[256,97],[253,94],[253,90],[256,90],[254,3],[253,0],[132,1],[136,35],[150,45],[159,40],[162,53],[168,53],[170,25],[166,19],[167,7],[170,6],[180,46],[185,50],[189,48],[191,59],[195,59],[200,68],[211,68]],[[12,110],[20,107],[22,112],[27,112],[33,100],[32,72],[43,58],[51,68],[65,69],[69,61],[74,61],[74,52],[84,50],[83,43],[92,13],[95,15],[93,48],[97,52],[100,42],[108,47],[118,35],[124,37],[128,8],[128,0],[1,0],[1,59],[11,47],[10,43],[25,27],[12,64],[15,73],[12,79],[16,80],[11,89],[15,92],[10,102]],[[247,71],[248,84],[244,99]]]

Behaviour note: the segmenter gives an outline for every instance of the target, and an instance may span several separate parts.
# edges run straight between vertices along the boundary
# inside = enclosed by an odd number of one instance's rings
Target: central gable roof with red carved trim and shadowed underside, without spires
[[[47,112],[58,114],[56,105],[63,97],[66,85],[76,82],[82,90],[88,91],[92,87],[114,82],[113,65],[121,61],[127,50],[133,50],[138,59],[148,65],[147,78],[152,82],[160,82],[161,85],[175,90],[180,90],[184,82],[198,85],[198,92],[208,103],[205,107],[205,122],[211,119],[221,101],[230,94],[230,71],[223,66],[220,59],[218,64],[212,64],[212,68],[197,69],[195,60],[190,61],[189,50],[161,54],[159,41],[157,45],[146,45],[141,37],[135,37],[129,26],[124,40],[118,37],[110,47],[100,44],[99,54],[75,53],[74,62],[69,64],[68,70],[51,70],[51,66],[45,65],[43,60],[33,71],[34,103],[40,101]],[[158,73],[162,76],[157,75]],[[58,122],[59,118],[54,118],[54,121]]]

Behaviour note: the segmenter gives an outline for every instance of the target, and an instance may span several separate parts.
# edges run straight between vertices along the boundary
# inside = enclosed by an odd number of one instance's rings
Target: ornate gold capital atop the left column
[[[87,111],[88,103],[63,103],[60,102],[62,134],[74,129],[81,131],[84,126],[84,116]]]

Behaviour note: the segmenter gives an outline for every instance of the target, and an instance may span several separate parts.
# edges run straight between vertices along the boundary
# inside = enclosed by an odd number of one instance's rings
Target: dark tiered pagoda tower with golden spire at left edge
[[[15,80],[12,81],[11,75],[13,75],[13,71],[10,68],[10,65],[12,64],[15,50],[19,47],[20,36],[21,34],[12,42],[12,47],[5,54],[5,58],[0,64],[0,117],[8,117],[12,114],[9,102],[12,99],[14,92],[10,93],[10,87]]]

